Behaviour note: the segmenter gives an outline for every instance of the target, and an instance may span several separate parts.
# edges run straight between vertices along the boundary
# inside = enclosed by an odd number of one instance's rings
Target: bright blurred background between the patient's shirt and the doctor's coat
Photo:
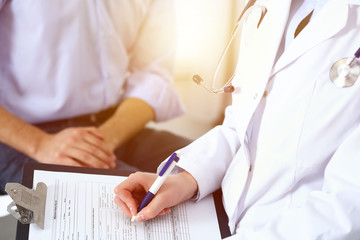
[[[211,85],[216,65],[230,38],[244,0],[175,0],[177,49],[174,86],[186,107],[186,114],[149,126],[165,129],[192,139],[221,124],[230,94],[213,94],[192,81],[199,74]],[[226,55],[218,78],[221,87],[232,75],[237,58],[239,36]]]

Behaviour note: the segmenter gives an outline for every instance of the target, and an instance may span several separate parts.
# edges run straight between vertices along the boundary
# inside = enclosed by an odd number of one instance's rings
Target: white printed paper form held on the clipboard
[[[34,186],[47,187],[45,229],[31,224],[29,239],[191,240],[221,239],[212,196],[186,202],[145,223],[131,222],[114,203],[126,177],[34,171]]]

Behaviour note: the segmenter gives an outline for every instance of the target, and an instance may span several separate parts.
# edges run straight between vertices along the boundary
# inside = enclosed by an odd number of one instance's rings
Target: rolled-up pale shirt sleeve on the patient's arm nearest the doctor
[[[147,102],[155,111],[155,121],[184,113],[184,106],[172,86],[176,39],[174,12],[172,0],[151,1],[130,53],[125,97]]]

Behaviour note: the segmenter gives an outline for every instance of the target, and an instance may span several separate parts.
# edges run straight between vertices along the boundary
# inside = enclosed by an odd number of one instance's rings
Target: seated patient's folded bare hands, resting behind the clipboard
[[[42,163],[114,168],[116,157],[95,127],[76,127],[44,135],[35,159]]]

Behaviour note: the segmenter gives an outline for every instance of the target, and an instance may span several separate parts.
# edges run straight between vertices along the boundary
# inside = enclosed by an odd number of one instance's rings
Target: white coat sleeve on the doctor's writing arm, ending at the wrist
[[[225,172],[240,148],[232,106],[225,111],[224,123],[179,150],[178,166],[197,181],[199,200],[220,188]]]

